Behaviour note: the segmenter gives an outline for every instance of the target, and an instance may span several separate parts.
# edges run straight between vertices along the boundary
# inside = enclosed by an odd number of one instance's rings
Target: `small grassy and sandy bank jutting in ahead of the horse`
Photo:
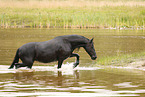
[[[100,58],[97,60],[97,65],[145,71],[145,52]]]

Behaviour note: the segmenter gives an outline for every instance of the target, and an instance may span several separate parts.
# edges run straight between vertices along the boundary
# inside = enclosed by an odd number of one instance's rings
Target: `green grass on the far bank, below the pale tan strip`
[[[84,5],[1,7],[0,26],[1,28],[144,28],[145,6],[115,6],[114,3],[116,2],[112,1],[112,5],[109,6],[92,4],[86,7]]]

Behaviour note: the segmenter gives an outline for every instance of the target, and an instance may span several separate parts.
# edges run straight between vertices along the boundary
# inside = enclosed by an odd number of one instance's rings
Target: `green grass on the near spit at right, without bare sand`
[[[98,58],[98,65],[115,65],[115,66],[125,66],[132,62],[137,62],[145,59],[145,51],[133,54],[122,54],[118,56],[106,56],[103,58]]]

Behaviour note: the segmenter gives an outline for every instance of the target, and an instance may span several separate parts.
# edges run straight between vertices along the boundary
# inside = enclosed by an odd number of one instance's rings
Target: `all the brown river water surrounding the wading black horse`
[[[74,58],[67,59],[60,70],[57,62],[35,62],[31,70],[7,69],[23,44],[68,34],[94,37],[98,58],[145,50],[141,30],[0,29],[0,96],[145,96],[145,71],[95,67],[97,60],[92,61],[84,49],[75,51],[80,55],[80,65],[75,69]]]

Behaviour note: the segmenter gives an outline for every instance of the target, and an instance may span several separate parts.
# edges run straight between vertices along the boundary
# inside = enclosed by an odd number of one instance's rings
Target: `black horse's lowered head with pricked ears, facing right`
[[[92,60],[95,60],[97,58],[95,49],[94,49],[94,43],[93,43],[93,39],[90,39],[87,44],[84,46],[84,49],[86,50],[86,52],[90,55]]]

